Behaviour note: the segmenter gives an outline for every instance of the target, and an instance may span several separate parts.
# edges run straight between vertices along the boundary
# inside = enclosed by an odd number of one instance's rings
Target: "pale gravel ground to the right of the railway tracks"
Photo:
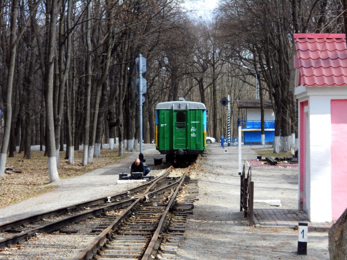
[[[269,148],[268,148],[269,149]],[[243,147],[243,162],[256,158],[257,148]],[[297,255],[298,233],[293,229],[249,227],[240,212],[238,150],[208,146],[196,172],[199,200],[186,225],[177,259],[329,259],[328,232],[310,231],[307,255]],[[248,166],[246,164],[248,169]],[[252,168],[254,199],[280,199],[282,208],[297,209],[297,167]],[[254,203],[254,208],[277,208]]]

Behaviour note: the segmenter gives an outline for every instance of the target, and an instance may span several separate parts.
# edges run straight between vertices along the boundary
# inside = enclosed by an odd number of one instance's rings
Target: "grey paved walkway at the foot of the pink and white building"
[[[309,229],[330,229],[333,222],[310,222],[307,214],[294,209],[254,209],[254,224],[257,227],[295,228],[298,222],[307,222]]]

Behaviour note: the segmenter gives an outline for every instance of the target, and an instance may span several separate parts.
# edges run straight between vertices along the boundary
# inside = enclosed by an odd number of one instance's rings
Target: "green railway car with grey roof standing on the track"
[[[188,101],[156,105],[156,149],[172,164],[192,161],[206,149],[206,106]]]

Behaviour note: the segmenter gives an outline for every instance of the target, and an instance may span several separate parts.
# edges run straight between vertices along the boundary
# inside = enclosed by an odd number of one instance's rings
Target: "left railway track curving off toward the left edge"
[[[68,207],[47,211],[41,214],[1,224],[0,230],[5,231],[1,233],[1,236],[9,236],[0,239],[0,248],[5,248],[6,246],[11,246],[14,244],[20,244],[21,242],[26,241],[28,238],[34,236],[35,233],[38,232],[57,231],[61,227],[64,227],[71,223],[76,223],[86,218],[98,216],[105,211],[128,206],[129,204],[134,203],[134,201],[136,201],[139,197],[143,196],[144,191],[148,193],[149,189],[161,189],[161,186],[165,185],[164,183],[168,182],[167,176],[170,170],[171,167],[167,168],[167,170],[165,170],[161,176],[156,177],[155,179],[139,185],[133,189],[112,195],[109,199],[102,197],[95,200],[89,200]],[[73,213],[74,215],[71,215],[71,213]],[[55,216],[60,216],[60,219],[48,219]],[[15,234],[12,235],[13,233]]]

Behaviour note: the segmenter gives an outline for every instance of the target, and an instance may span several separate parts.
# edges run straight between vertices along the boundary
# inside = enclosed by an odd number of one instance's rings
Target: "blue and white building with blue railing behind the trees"
[[[265,144],[272,144],[275,135],[275,114],[270,99],[263,99]],[[259,99],[238,99],[237,109],[245,109],[245,118],[238,120],[244,133],[244,144],[261,144],[261,114]]]

